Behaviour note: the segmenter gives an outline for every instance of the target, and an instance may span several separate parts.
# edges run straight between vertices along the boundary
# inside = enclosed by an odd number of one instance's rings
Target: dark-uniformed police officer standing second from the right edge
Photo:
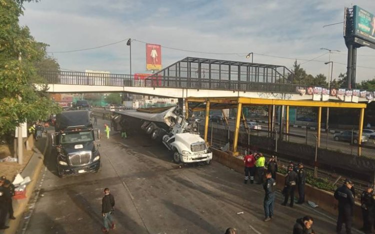
[[[334,191],[334,198],[338,200],[338,217],[336,232],[341,231],[342,223],[345,223],[346,234],[351,234],[351,222],[353,215],[354,196],[351,192],[353,183],[345,179],[341,187]]]

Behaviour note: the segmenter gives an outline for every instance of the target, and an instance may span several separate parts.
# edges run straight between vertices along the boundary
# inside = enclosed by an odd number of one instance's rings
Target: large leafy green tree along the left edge
[[[59,111],[49,98],[35,63],[46,59],[46,44],[37,42],[28,27],[19,25],[22,0],[0,0],[0,135],[24,122],[46,119]],[[41,83],[37,87],[35,81]]]

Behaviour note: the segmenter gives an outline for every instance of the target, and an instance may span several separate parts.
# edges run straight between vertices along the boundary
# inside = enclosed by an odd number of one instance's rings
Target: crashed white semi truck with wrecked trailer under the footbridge
[[[115,111],[114,126],[126,131],[142,129],[151,139],[160,140],[171,152],[176,163],[212,159],[208,144],[196,131],[195,122],[189,123],[178,113],[177,106]]]

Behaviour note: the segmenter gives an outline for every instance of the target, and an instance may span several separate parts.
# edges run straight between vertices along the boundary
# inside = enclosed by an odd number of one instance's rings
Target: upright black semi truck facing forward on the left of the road
[[[100,130],[93,128],[88,110],[68,110],[56,115],[52,146],[56,147],[57,173],[96,172],[100,167]]]

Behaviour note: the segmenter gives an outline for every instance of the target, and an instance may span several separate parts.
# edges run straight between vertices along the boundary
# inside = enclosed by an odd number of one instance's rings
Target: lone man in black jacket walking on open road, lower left
[[[112,214],[114,210],[114,197],[110,194],[109,188],[104,188],[104,197],[101,199],[101,216],[103,217],[103,227],[101,230],[103,232],[109,231],[109,226],[111,229],[115,228],[115,224],[112,219]]]

